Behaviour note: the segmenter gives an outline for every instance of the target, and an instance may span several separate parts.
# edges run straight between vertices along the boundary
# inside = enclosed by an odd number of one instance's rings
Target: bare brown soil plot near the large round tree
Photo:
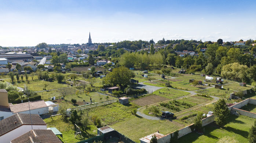
[[[146,105],[151,105],[151,104],[159,103],[161,101],[166,101],[166,100],[169,100],[169,99],[165,97],[157,96],[157,95],[150,95],[150,96],[132,100],[131,102],[143,107]]]

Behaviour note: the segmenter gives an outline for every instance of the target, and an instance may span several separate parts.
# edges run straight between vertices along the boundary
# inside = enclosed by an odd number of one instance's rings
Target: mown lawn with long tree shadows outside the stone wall
[[[248,131],[255,119],[230,115],[228,123],[219,128],[215,123],[205,126],[203,135],[192,132],[178,140],[179,143],[216,143],[219,138],[233,136],[240,143],[248,143]]]

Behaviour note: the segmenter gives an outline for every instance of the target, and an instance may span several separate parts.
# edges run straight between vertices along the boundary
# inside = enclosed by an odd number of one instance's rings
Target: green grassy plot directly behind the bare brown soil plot
[[[162,89],[156,90],[155,92],[153,92],[153,94],[156,94],[168,99],[174,99],[174,98],[188,95],[189,92],[184,92],[181,90],[170,89],[170,88],[162,88]]]

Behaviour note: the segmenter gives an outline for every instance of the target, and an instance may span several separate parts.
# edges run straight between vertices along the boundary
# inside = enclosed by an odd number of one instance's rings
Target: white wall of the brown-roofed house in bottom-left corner
[[[1,143],[10,143],[11,140],[25,134],[32,130],[31,125],[22,125],[2,136],[0,136]],[[47,130],[47,125],[33,125],[33,130]]]

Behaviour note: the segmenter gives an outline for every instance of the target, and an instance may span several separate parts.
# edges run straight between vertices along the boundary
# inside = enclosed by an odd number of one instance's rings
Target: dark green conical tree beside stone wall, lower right
[[[221,98],[217,101],[217,103],[214,106],[213,113],[214,121],[216,122],[217,125],[222,127],[224,124],[226,124],[229,115],[229,110],[226,105],[225,99]]]

